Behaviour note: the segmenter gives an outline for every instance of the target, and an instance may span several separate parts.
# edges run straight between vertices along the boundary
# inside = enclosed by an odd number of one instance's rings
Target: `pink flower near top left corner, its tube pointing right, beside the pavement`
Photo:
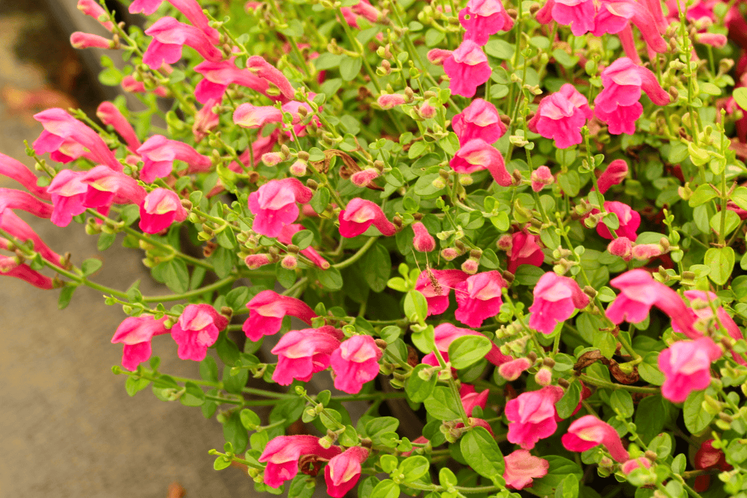
[[[153,37],[143,54],[143,63],[150,69],[159,69],[163,63],[177,62],[182,58],[182,47],[185,45],[211,62],[218,62],[223,58],[223,54],[202,30],[173,17],[161,17],[145,30],[145,34]]]

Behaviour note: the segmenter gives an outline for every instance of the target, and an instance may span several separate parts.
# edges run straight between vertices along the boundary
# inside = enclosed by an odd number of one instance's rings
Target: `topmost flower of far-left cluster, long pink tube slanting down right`
[[[80,157],[83,149],[87,149],[94,163],[105,164],[115,171],[122,171],[122,164],[117,161],[99,134],[70,116],[67,111],[60,108],[47,109],[34,114],[34,119],[44,127],[39,138],[31,144],[37,154],[50,152],[49,157],[53,160],[68,163]],[[75,157],[65,153],[70,148],[77,151]]]

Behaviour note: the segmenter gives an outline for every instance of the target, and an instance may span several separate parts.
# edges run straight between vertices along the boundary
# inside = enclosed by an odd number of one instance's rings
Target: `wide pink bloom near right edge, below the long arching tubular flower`
[[[679,340],[659,353],[659,370],[666,377],[661,394],[673,403],[684,402],[693,390],[710,385],[710,364],[722,351],[710,337]]]

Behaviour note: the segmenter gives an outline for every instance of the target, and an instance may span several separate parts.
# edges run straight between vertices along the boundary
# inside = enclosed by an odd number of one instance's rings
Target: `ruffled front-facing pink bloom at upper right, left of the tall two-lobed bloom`
[[[527,122],[530,131],[555,140],[559,149],[567,149],[583,141],[580,129],[586,119],[592,119],[589,101],[572,84],[564,84],[560,91],[545,97]]]

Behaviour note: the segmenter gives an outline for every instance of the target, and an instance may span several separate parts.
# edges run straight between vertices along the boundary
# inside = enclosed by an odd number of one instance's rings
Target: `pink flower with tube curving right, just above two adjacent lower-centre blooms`
[[[265,335],[277,334],[286,315],[296,317],[311,325],[317,314],[305,302],[294,297],[281,296],[273,290],[262,290],[247,303],[249,318],[244,322],[244,334],[257,342]]]

